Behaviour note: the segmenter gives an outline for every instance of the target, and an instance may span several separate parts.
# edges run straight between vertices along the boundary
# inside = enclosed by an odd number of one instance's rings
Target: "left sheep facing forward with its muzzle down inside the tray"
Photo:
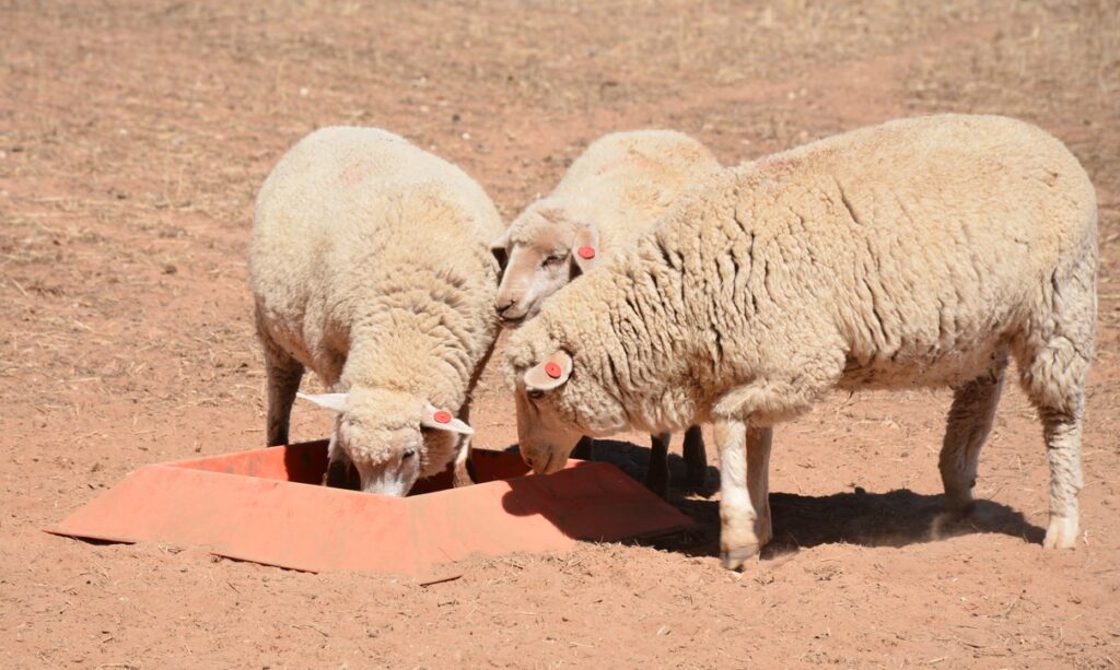
[[[256,199],[249,274],[268,377],[268,445],[287,444],[305,369],[334,393],[328,485],[403,496],[455,461],[468,483],[470,393],[497,336],[503,229],[451,163],[376,129],[325,128]]]

